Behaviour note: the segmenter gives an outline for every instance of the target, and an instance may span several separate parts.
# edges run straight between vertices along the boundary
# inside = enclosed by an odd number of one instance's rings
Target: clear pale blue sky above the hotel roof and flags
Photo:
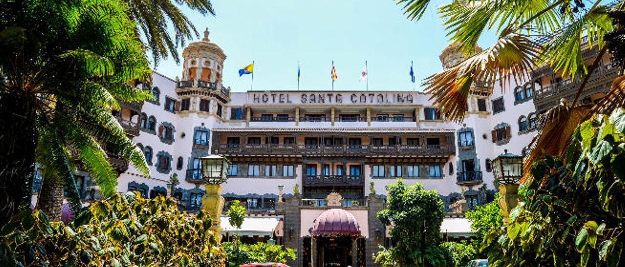
[[[330,90],[332,60],[338,75],[334,90],[364,90],[359,77],[365,60],[369,90],[412,90],[411,61],[415,88],[422,90],[422,80],[441,70],[438,56],[448,44],[438,6],[430,6],[421,21],[414,22],[391,0],[214,0],[212,4],[216,16],[183,10],[200,35],[209,27],[209,39],[227,56],[224,85],[239,92],[250,89],[251,77],[239,78],[237,72],[252,61],[256,62],[254,90],[296,90],[297,61],[301,90]],[[487,47],[493,41],[485,36],[479,44]],[[156,71],[174,78],[182,69],[168,59]]]

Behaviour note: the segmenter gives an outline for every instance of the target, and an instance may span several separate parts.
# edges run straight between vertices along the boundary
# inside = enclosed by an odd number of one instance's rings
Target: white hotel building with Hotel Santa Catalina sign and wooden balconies
[[[464,122],[456,124],[422,92],[234,92],[222,84],[226,56],[208,32],[183,57],[181,78],[154,72],[151,84],[137,85],[154,100],[123,104],[117,114],[150,168],[144,177],[111,155],[118,191],[170,195],[181,210],[199,210],[199,158],[223,155],[231,162],[222,185],[226,209],[232,200],[247,206],[241,234],[296,249],[291,266],[377,266],[372,254],[390,241],[376,212],[384,208],[385,187],[399,178],[439,193],[451,225],[444,235],[470,235],[454,229],[453,220],[493,200],[491,160],[504,150],[523,155],[536,133],[535,100],[544,112],[567,85],[544,69],[506,94],[495,84],[491,95],[469,95]],[[449,67],[461,54],[449,46],[440,58]],[[609,79],[606,68],[598,84]],[[89,195],[88,181],[81,183]],[[221,221],[226,233],[232,230]]]

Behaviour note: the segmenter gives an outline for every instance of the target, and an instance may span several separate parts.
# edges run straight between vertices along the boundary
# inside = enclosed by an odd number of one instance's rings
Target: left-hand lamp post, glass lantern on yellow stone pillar
[[[202,209],[211,216],[211,230],[221,233],[221,211],[224,208],[224,198],[221,197],[221,184],[227,180],[229,160],[220,155],[210,155],[200,158],[202,162],[202,179],[206,194],[202,197]],[[219,235],[221,241],[221,235]]]

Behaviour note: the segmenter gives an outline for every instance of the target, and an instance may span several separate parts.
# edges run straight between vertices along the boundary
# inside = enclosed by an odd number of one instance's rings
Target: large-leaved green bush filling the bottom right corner
[[[563,157],[534,162],[526,201],[487,234],[494,266],[621,266],[625,255],[625,110],[596,115]]]

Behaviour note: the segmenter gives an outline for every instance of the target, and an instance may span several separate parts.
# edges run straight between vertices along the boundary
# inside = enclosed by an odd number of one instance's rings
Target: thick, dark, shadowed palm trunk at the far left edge
[[[0,95],[0,225],[31,207],[37,134],[30,96]]]

